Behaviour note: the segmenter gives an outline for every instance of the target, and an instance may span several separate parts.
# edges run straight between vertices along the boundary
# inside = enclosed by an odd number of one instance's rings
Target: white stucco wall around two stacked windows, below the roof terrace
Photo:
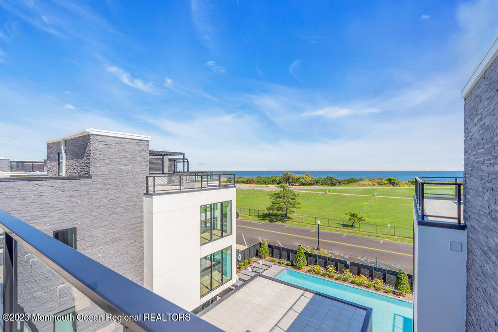
[[[232,235],[201,246],[200,206],[232,201]],[[144,286],[193,310],[235,282],[236,189],[144,196]],[[232,246],[232,278],[200,297],[200,259]]]

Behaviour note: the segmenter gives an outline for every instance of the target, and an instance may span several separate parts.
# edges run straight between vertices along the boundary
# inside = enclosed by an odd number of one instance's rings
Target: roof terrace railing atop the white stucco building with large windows
[[[145,177],[146,193],[200,190],[235,186],[235,174],[189,173],[160,174]]]

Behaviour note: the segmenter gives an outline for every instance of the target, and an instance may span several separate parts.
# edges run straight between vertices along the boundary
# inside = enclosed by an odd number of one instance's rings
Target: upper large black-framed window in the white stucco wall
[[[232,234],[232,201],[201,205],[201,244]]]

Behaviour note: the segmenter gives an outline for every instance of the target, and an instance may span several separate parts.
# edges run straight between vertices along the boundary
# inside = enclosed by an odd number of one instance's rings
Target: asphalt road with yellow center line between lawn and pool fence
[[[237,244],[252,245],[265,238],[270,244],[297,248],[298,244],[316,247],[318,231],[313,228],[278,222],[237,219]],[[413,274],[413,244],[373,237],[320,230],[320,248],[334,257]]]

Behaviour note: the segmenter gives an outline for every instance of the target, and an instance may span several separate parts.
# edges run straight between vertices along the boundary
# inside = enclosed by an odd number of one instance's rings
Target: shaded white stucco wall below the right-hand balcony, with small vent
[[[467,231],[418,225],[414,218],[415,331],[465,331]],[[450,250],[450,242],[462,251]]]

